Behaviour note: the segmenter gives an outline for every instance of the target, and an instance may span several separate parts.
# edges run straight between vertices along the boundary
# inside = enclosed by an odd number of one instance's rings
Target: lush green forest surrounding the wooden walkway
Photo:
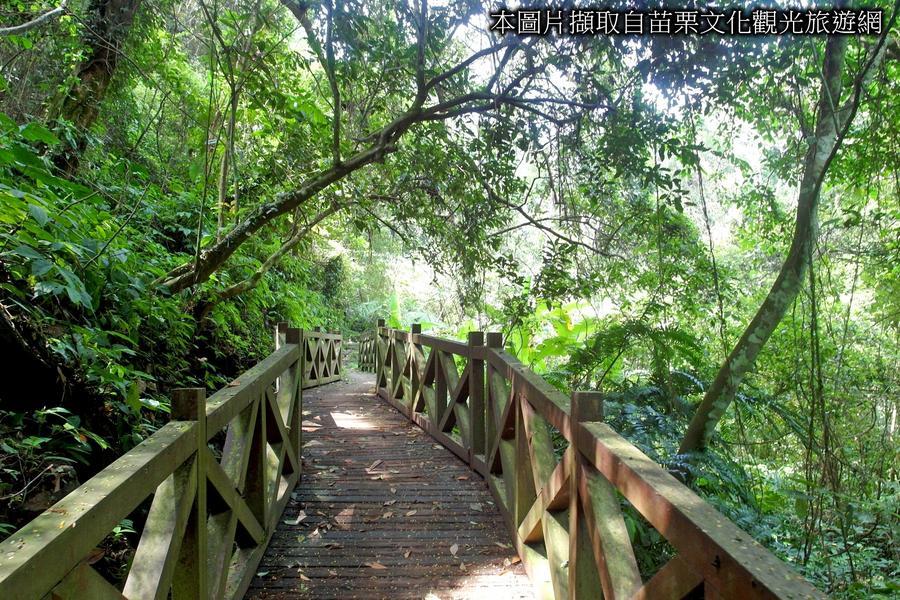
[[[859,35],[496,8],[0,0],[0,539],[276,323],[384,318],[502,332],[820,590],[900,594],[898,2]]]

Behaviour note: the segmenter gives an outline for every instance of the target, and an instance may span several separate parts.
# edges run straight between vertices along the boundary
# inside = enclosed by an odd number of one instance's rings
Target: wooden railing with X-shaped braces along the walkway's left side
[[[241,598],[300,476],[301,388],[340,373],[339,335],[275,345],[209,398],[175,390],[171,422],[0,544],[0,598]],[[96,548],[150,496],[120,590]]]

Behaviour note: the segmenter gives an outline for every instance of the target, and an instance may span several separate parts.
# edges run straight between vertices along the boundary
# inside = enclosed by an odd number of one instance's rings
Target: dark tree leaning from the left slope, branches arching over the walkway
[[[409,27],[411,31],[407,31],[403,22],[397,21],[392,24],[395,31],[379,31],[382,39],[391,40],[395,47],[367,52],[355,45],[356,33],[347,25],[352,21],[352,7],[325,3],[323,36],[313,28],[308,17],[308,5],[287,0],[285,4],[305,31],[329,83],[332,96],[330,160],[326,167],[306,177],[294,190],[283,192],[253,209],[220,240],[201,249],[195,260],[172,269],[166,277],[158,279],[156,283],[170,292],[203,283],[260,229],[305,205],[329,186],[371,164],[383,162],[398,150],[400,140],[415,126],[470,114],[499,114],[503,109],[523,111],[562,123],[573,119],[572,112],[611,106],[608,98],[590,89],[589,77],[585,77],[585,85],[580,87],[577,99],[566,97],[561,92],[551,95],[535,93],[535,90],[543,91],[537,82],[546,79],[551,67],[567,61],[571,64],[578,51],[584,50],[581,43],[560,40],[553,44],[544,43],[542,47],[535,43],[536,40],[522,41],[508,36],[499,41],[492,40],[489,45],[462,60],[450,62],[459,49],[452,33],[445,30],[448,25],[454,28],[465,26],[471,15],[463,15],[457,22],[448,23],[446,9],[429,12],[427,2],[421,0],[415,10],[409,10],[408,16],[413,23]],[[370,12],[377,13],[377,10],[372,8]],[[342,65],[336,59],[339,23],[345,28],[344,38],[340,41],[342,53],[347,58]],[[320,39],[322,37],[324,42]],[[406,39],[410,41],[406,42]],[[392,56],[386,57],[385,52]],[[342,91],[342,84],[348,83],[342,79],[340,72],[341,67],[353,68],[352,64],[347,64],[351,59],[360,63],[371,61],[373,64],[379,61],[384,64],[390,60],[396,62],[391,65],[392,70],[412,74],[412,81],[392,77],[388,82],[385,79],[382,87],[386,91],[380,97],[375,90],[372,92],[375,97],[358,99],[360,103],[369,105],[385,101],[406,104],[399,113],[388,111],[377,115],[377,120],[371,113],[362,114],[353,123],[356,131],[352,137],[347,135],[348,123],[342,108],[351,103],[351,94]],[[489,61],[493,61],[490,75],[486,80],[479,81],[473,67]],[[403,100],[404,97],[411,99]]]

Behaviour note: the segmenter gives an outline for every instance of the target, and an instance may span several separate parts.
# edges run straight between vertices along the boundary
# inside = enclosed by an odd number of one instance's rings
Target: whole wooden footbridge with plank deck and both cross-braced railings
[[[170,423],[0,544],[0,598],[824,597],[499,334],[379,322],[349,376],[339,335],[275,345],[175,390]],[[625,505],[670,544],[655,573]],[[114,584],[95,565],[127,517]]]

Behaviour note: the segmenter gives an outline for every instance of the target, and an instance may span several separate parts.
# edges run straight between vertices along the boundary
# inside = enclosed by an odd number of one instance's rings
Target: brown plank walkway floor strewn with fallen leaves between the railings
[[[373,392],[304,393],[302,479],[247,598],[532,598],[485,482]]]

